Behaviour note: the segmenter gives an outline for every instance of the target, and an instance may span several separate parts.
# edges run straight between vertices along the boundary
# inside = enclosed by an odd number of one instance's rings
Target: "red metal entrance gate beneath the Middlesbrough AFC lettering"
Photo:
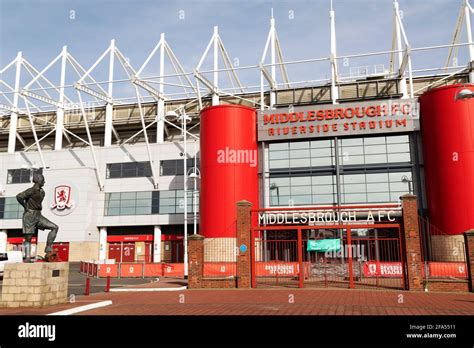
[[[251,252],[252,287],[405,289],[399,224],[260,226]]]

